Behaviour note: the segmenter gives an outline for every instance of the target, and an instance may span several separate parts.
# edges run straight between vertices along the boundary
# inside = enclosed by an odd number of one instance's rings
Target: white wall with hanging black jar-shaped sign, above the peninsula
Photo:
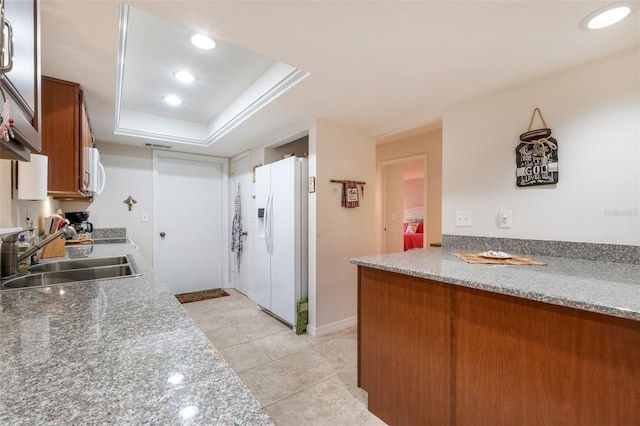
[[[558,140],[559,182],[518,188],[535,107]],[[640,244],[640,50],[454,105],[443,121],[443,233]],[[495,224],[501,205],[512,229]],[[473,226],[456,227],[456,210]]]

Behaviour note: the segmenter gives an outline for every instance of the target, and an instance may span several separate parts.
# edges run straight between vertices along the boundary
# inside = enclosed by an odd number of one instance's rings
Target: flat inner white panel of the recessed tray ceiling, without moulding
[[[203,51],[188,43],[193,30],[135,8],[129,8],[128,24],[122,103],[133,110],[209,122],[275,62],[224,41],[218,41],[215,50]],[[184,84],[173,79],[182,69],[197,80]],[[203,90],[202,83],[208,81],[224,81],[224,90]],[[179,94],[183,104],[163,102],[167,93]]]

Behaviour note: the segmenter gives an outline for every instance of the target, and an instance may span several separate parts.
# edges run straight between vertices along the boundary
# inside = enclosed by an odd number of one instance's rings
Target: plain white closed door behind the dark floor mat
[[[153,268],[173,294],[226,287],[226,161],[154,151]]]

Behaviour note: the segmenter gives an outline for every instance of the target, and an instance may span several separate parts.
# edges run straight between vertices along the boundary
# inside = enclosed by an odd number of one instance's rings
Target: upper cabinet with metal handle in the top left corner
[[[0,158],[29,161],[40,152],[40,1],[0,0],[4,9],[0,82],[14,121],[15,140],[0,138]],[[11,60],[11,58],[13,60]]]

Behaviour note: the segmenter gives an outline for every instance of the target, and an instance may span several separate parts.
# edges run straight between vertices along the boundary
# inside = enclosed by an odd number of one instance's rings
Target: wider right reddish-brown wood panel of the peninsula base
[[[640,323],[457,288],[461,425],[637,425]]]

